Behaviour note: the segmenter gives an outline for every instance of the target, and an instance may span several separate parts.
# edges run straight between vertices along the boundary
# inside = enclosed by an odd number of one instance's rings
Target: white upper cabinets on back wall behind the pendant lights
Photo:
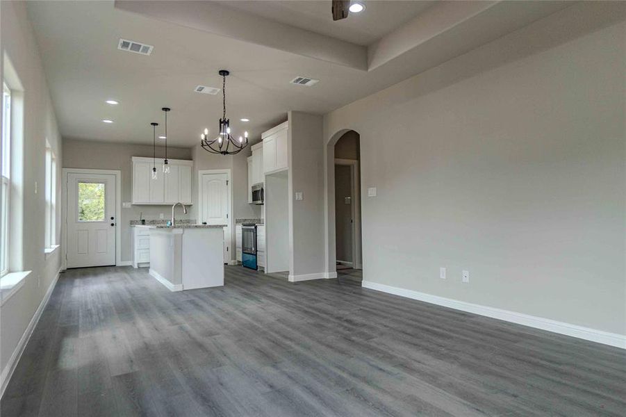
[[[163,172],[163,158],[156,159],[156,179],[152,179],[152,158],[133,156],[133,204],[192,204],[191,170],[193,161],[169,159],[170,172]]]

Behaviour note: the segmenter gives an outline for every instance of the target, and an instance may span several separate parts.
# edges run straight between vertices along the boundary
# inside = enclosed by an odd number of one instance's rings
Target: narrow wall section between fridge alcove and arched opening
[[[289,223],[292,251],[289,275],[324,272],[324,170],[322,116],[288,113]],[[295,201],[295,193],[303,193]],[[290,278],[291,279],[291,278]]]

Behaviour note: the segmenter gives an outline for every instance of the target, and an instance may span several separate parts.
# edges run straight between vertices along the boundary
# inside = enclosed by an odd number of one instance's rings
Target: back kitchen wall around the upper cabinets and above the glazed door
[[[163,157],[165,150],[157,147],[156,155]],[[133,145],[129,143],[97,142],[94,140],[63,140],[63,167],[90,168],[94,170],[120,170],[122,172],[122,202],[133,201],[133,156],[152,156],[152,147],[149,145]],[[191,149],[167,147],[167,156],[170,159],[190,160]],[[158,167],[157,169],[160,169]],[[195,184],[192,177],[192,190]],[[193,195],[194,205],[197,204],[197,195]],[[172,217],[172,205],[144,206],[133,205],[131,208],[122,208],[122,216],[118,226],[122,228],[122,261],[132,261],[132,229],[131,220],[139,220],[140,214],[147,220],[156,220],[163,213],[165,220]],[[195,219],[191,215],[183,214],[176,208],[177,219]]]

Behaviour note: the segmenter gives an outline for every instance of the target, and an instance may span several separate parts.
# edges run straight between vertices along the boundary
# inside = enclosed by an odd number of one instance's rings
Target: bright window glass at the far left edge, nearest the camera
[[[0,195],[0,277],[8,272],[8,224],[11,197],[11,90],[2,83],[2,143],[0,146],[0,171],[2,190]]]

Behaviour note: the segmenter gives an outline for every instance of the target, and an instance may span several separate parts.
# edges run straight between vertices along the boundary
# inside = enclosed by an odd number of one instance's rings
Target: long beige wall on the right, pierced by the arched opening
[[[354,129],[364,280],[626,334],[624,19],[577,3],[325,115],[328,270]]]

